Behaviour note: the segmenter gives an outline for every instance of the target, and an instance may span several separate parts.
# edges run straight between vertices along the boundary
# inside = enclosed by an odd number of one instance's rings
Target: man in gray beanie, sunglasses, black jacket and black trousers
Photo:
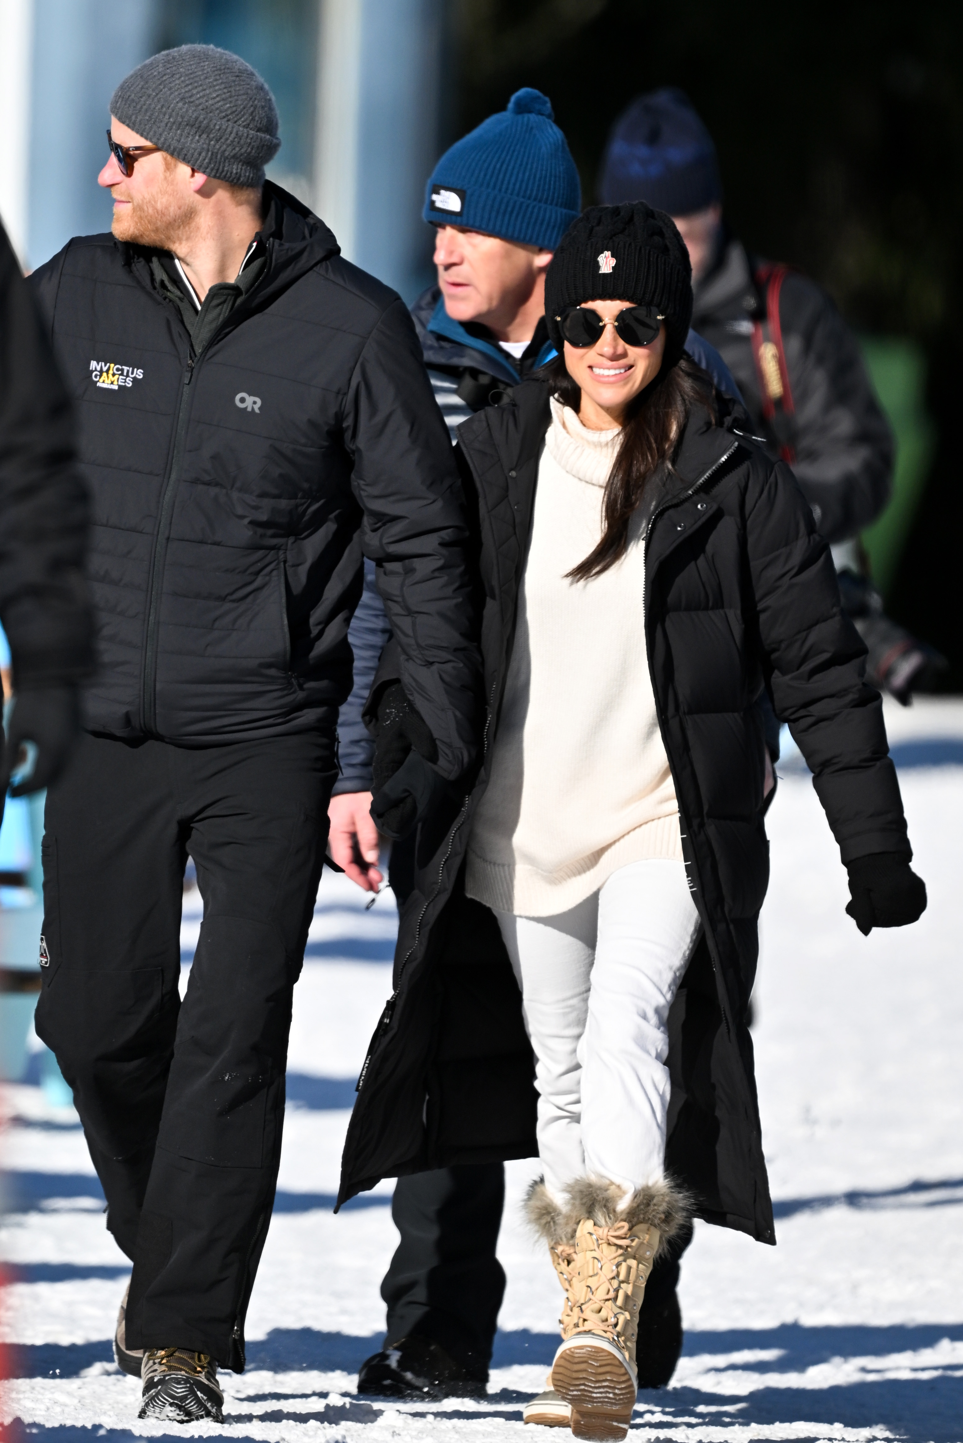
[[[419,750],[396,834],[452,825],[479,736],[468,530],[409,313],[264,180],[277,113],[191,45],[117,88],[113,235],[40,267],[82,416],[100,670],[46,804],[39,1035],[133,1260],[141,1417],[221,1418],[270,1222],[362,556]],[[387,794],[387,788],[385,788]],[[179,999],[188,854],[204,925]]]

